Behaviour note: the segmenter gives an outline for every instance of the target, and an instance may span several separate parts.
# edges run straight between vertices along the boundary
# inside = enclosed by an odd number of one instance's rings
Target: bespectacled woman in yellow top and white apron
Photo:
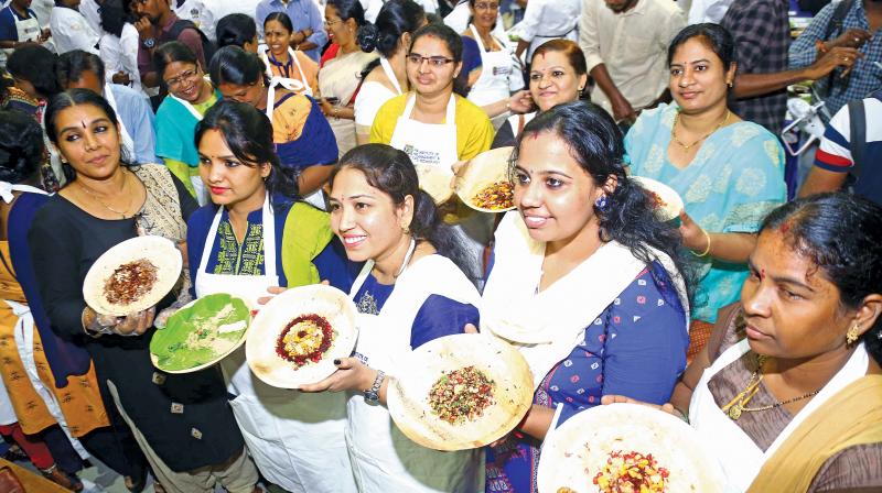
[[[405,151],[423,175],[452,178],[456,161],[471,160],[490,149],[493,124],[473,102],[453,94],[453,80],[462,68],[462,39],[441,24],[429,24],[413,34],[407,72],[411,92],[392,98],[380,108],[370,141]],[[472,255],[467,274],[481,277],[481,259],[492,237],[493,215],[476,212],[450,201],[458,233]]]

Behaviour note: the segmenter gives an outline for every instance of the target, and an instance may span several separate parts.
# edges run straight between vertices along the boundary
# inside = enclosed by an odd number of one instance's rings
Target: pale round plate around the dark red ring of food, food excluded
[[[336,366],[334,360],[352,354],[358,339],[355,325],[357,310],[352,299],[342,291],[321,284],[294,287],[273,297],[257,313],[248,329],[245,355],[248,366],[269,385],[280,388],[299,388],[330,376]],[[299,366],[277,352],[282,332],[294,319],[318,315],[331,326],[331,347],[318,361]]]

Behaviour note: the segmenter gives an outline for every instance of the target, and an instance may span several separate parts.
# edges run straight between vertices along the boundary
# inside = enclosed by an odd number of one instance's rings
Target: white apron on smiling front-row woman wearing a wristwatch
[[[374,262],[362,269],[349,293],[355,297]],[[431,280],[428,281],[427,280]],[[370,368],[395,375],[399,359],[411,351],[413,318],[432,287],[443,286],[465,303],[477,303],[474,286],[450,260],[429,255],[416,261],[398,277],[396,288],[379,315],[358,314],[356,351]],[[473,293],[472,296],[467,294]],[[434,289],[437,291],[437,289]],[[439,293],[440,294],[440,293]],[[453,294],[447,294],[453,298]],[[392,423],[388,409],[367,404],[364,395],[351,394],[347,404],[346,443],[362,493],[475,493],[484,491],[482,449],[441,452],[407,438]]]

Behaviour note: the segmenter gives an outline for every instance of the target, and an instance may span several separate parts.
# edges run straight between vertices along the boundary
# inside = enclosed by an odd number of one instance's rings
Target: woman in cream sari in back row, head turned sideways
[[[355,147],[355,95],[362,86],[362,72],[377,58],[374,52],[363,52],[358,33],[365,24],[358,0],[329,0],[324,8],[325,31],[334,43],[322,58],[319,69],[319,90],[324,116],[334,129],[342,156]],[[327,58],[332,56],[332,58]]]

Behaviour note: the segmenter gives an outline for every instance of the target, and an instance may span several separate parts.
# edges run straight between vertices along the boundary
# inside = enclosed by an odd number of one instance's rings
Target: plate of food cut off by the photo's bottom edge
[[[639,404],[581,412],[542,443],[539,493],[723,490],[722,468],[681,419]]]

